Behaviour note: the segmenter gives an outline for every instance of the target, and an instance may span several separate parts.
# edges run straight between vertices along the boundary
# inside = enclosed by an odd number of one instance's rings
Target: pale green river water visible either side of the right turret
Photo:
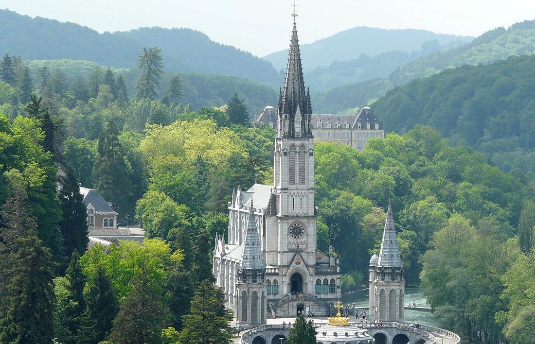
[[[349,294],[342,298],[343,304],[355,303],[357,307],[369,306],[368,290]],[[416,306],[429,307],[427,300],[425,299],[422,290],[419,287],[406,287],[405,288],[405,304],[416,302]],[[419,323],[425,325],[431,325],[445,329],[446,319],[435,316],[430,311],[405,309],[405,321],[409,323]]]

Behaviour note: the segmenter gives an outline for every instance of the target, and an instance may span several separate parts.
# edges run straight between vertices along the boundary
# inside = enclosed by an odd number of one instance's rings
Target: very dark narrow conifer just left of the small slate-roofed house
[[[89,239],[87,237],[87,208],[80,194],[78,180],[72,169],[67,168],[67,175],[61,179],[59,201],[61,204],[63,219],[59,223],[65,246],[65,254],[71,257],[74,251],[86,251]]]

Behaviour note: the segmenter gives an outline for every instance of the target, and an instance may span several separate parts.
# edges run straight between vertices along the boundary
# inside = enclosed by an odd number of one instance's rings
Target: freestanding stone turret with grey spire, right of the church
[[[381,249],[371,257],[369,272],[371,319],[403,322],[405,280],[390,199]]]

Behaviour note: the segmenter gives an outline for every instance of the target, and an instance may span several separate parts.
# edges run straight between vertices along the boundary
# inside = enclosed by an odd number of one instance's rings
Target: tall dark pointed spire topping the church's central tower
[[[294,16],[292,40],[288,52],[284,88],[279,93],[278,137],[311,137],[310,115],[312,106],[310,92],[304,87],[301,52],[297,38],[297,24]]]

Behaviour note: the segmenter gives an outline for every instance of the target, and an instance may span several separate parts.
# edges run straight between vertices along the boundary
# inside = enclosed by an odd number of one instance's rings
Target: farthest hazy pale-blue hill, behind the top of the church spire
[[[318,66],[328,66],[333,61],[357,59],[361,54],[374,56],[383,52],[419,50],[425,41],[437,40],[440,45],[455,41],[470,42],[473,37],[435,34],[416,29],[379,29],[359,26],[348,29],[314,43],[302,44],[301,54],[306,59],[303,68],[311,70]],[[289,40],[289,36],[288,36]],[[288,52],[278,51],[264,56],[277,70],[286,66]]]

